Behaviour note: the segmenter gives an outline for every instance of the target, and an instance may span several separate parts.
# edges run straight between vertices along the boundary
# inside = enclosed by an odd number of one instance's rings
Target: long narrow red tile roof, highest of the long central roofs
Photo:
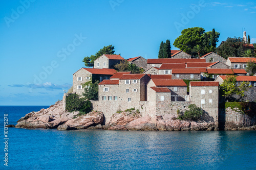
[[[158,59],[147,59],[147,64],[162,64],[162,63],[205,63],[205,59],[194,59],[194,58],[158,58]]]

